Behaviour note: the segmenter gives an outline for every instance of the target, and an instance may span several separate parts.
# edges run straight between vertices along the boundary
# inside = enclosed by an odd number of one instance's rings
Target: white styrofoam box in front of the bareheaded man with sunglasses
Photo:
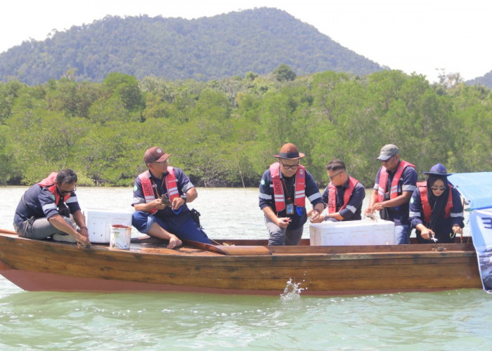
[[[309,224],[312,246],[394,245],[391,220],[347,220]]]

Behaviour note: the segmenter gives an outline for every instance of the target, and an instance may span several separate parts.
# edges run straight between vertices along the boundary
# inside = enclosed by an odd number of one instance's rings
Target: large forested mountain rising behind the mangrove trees
[[[382,69],[285,11],[255,8],[195,20],[106,16],[1,53],[0,80],[35,85],[70,70],[77,81],[102,81],[110,72],[206,81],[267,74],[280,64],[297,75]]]

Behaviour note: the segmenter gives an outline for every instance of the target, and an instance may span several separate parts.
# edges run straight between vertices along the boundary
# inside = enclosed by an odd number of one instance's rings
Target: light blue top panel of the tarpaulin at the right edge
[[[470,204],[470,210],[492,208],[492,172],[454,173],[448,180]]]

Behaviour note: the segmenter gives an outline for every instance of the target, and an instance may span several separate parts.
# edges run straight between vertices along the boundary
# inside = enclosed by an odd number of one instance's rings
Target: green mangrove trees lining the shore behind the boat
[[[373,186],[382,145],[422,171],[492,170],[492,94],[459,74],[331,71],[297,77],[287,65],[261,76],[169,81],[113,72],[101,83],[0,83],[0,185],[30,185],[72,168],[79,185],[131,186],[143,153],[160,146],[198,187],[257,187],[290,142],[323,188],[339,158]]]

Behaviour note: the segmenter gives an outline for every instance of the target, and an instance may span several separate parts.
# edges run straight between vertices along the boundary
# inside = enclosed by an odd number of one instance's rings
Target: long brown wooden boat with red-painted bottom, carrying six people
[[[0,274],[27,291],[190,291],[348,295],[481,288],[477,254],[466,244],[267,246],[266,240],[186,242],[132,239],[130,249],[18,237],[0,230]]]

